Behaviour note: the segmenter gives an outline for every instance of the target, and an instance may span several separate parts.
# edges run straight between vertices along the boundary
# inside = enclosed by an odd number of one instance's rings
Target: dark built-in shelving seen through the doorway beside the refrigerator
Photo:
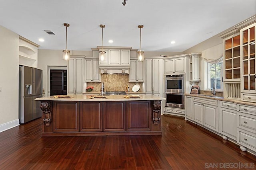
[[[67,70],[50,70],[50,96],[67,94]]]

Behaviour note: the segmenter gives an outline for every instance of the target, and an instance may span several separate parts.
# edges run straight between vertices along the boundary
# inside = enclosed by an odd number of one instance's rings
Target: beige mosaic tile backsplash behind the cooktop
[[[129,82],[129,74],[101,74],[101,81],[104,82],[104,91],[126,91],[126,86],[129,86],[132,92],[132,87],[139,84],[138,92],[142,92],[142,82]],[[100,92],[101,82],[88,82],[87,86],[94,87],[92,92]]]

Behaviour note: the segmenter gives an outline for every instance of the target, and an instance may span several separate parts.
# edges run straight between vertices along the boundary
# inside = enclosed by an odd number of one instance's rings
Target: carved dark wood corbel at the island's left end
[[[52,102],[42,101],[40,105],[41,110],[44,113],[43,122],[46,126],[50,126],[52,121]]]

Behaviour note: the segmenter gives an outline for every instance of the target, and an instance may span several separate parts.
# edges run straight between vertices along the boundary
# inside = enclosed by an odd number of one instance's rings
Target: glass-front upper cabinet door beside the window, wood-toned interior
[[[224,82],[240,81],[240,34],[224,39]]]

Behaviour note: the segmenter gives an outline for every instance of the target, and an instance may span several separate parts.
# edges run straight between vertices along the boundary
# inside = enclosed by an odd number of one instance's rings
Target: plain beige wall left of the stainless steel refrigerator
[[[0,131],[18,121],[19,35],[0,25]],[[19,122],[18,122],[19,123]]]

